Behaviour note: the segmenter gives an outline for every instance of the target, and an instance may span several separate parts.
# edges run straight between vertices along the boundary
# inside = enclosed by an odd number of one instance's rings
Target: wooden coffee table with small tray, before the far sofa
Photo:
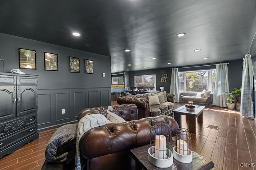
[[[187,110],[186,106],[183,105],[173,110],[174,119],[177,121],[179,127],[181,128],[181,115],[186,115],[186,121],[188,121],[188,131],[190,133],[196,133],[196,117],[198,123],[203,123],[204,108],[204,106],[196,106],[194,110]]]

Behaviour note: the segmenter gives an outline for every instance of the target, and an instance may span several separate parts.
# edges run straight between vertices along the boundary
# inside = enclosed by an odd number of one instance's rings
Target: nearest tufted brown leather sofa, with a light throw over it
[[[80,139],[82,162],[87,170],[134,170],[135,161],[129,150],[150,143],[150,128],[155,121],[165,121],[172,130],[178,129],[177,122],[168,115],[146,117],[138,120],[135,104],[112,106],[113,113],[126,122],[109,123],[90,129]],[[85,115],[101,113],[106,116],[107,107],[83,109],[78,121]]]

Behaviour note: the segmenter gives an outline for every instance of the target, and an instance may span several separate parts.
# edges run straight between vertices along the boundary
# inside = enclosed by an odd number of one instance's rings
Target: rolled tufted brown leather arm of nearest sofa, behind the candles
[[[80,139],[80,152],[86,159],[129,150],[150,143],[150,128],[156,121],[166,122],[176,135],[178,123],[170,116],[145,117],[123,123],[110,123],[87,131]]]

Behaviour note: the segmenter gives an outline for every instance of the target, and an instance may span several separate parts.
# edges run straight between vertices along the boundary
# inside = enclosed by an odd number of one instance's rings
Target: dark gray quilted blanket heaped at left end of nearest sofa
[[[45,158],[47,162],[69,164],[74,161],[77,126],[78,123],[67,124],[56,129],[46,146]]]

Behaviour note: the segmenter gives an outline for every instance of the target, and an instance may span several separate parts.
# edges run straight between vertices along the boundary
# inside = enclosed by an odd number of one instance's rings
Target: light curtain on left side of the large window
[[[175,103],[180,102],[178,68],[172,68],[170,94],[175,94]]]

